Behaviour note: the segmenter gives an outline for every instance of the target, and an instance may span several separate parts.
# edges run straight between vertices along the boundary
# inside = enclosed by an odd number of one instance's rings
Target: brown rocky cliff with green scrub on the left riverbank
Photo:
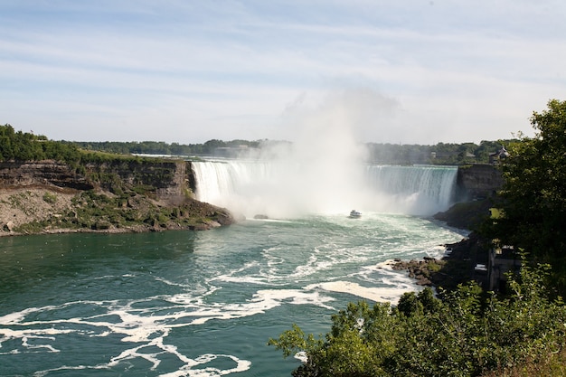
[[[0,162],[0,235],[204,230],[233,221],[193,199],[190,182],[190,165],[180,160]]]

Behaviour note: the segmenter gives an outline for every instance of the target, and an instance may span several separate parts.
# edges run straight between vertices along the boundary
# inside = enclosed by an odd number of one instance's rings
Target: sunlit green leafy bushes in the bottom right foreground
[[[512,294],[484,294],[475,284],[433,296],[407,293],[397,307],[349,304],[315,340],[297,325],[269,339],[288,356],[306,351],[295,376],[479,376],[542,360],[565,344],[566,309],[543,285],[547,266],[510,276]]]

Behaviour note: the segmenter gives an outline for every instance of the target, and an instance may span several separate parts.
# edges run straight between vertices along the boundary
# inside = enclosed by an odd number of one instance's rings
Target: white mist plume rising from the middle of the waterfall
[[[318,101],[297,97],[283,114],[291,142],[264,146],[260,156],[269,159],[269,172],[244,178],[239,197],[226,205],[245,203],[237,211],[274,218],[362,208],[369,194],[363,191],[368,152],[362,140],[385,132],[384,119],[398,106],[367,88],[330,91]]]

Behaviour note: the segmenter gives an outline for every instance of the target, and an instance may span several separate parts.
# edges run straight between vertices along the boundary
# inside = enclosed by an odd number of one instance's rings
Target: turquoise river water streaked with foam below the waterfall
[[[289,376],[266,345],[316,334],[362,298],[418,289],[387,259],[439,256],[463,234],[363,213],[212,231],[0,239],[2,376]]]

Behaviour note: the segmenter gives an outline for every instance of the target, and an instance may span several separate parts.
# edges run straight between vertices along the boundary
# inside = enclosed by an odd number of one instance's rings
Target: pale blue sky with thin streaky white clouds
[[[0,0],[0,124],[180,144],[531,136],[566,97],[565,19],[562,0]]]

